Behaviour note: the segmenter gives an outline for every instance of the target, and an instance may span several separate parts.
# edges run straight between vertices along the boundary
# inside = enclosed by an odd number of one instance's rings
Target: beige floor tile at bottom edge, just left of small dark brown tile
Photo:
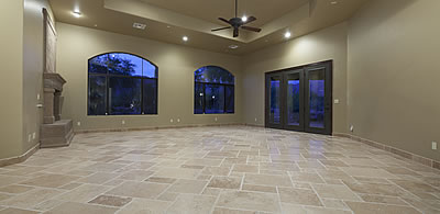
[[[117,212],[117,209],[107,207],[107,206],[98,206],[91,204],[84,204],[77,202],[65,202],[44,214],[113,214]]]

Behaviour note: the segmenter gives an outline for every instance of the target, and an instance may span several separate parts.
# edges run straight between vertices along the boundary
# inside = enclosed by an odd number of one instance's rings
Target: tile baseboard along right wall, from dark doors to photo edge
[[[396,148],[393,146],[388,146],[383,143],[374,142],[371,139],[362,138],[362,137],[351,135],[351,134],[345,134],[345,133],[333,133],[333,136],[346,137],[346,138],[350,138],[350,139],[356,140],[356,142],[361,142],[369,146],[389,151],[389,153],[398,155],[403,158],[410,159],[413,161],[425,165],[427,167],[431,167],[431,168],[440,170],[440,161],[437,161],[437,160],[433,160],[430,158],[426,158],[426,157],[422,157],[422,156],[419,156],[419,155],[416,155],[416,154],[413,154],[413,153],[409,153],[409,151],[406,151],[406,150],[403,150],[403,149],[399,149],[399,148]]]

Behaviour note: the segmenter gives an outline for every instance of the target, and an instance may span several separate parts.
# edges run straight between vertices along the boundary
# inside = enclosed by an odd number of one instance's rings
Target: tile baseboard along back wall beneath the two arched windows
[[[231,125],[244,125],[244,124],[243,123],[223,123],[223,124],[170,125],[170,126],[147,126],[147,127],[127,127],[127,128],[79,129],[79,131],[74,131],[74,132],[75,132],[75,134],[85,134],[85,133],[133,132],[133,131],[207,127],[207,126],[231,126]]]

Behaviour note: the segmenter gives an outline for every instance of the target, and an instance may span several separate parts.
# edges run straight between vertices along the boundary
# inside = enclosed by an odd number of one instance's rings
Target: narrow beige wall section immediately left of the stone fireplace
[[[43,109],[36,108],[36,104],[43,103],[43,8],[51,11],[46,0],[24,0],[22,153],[40,142]]]

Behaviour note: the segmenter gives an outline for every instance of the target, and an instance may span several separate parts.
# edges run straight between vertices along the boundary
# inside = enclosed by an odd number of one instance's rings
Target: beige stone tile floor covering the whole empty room
[[[0,168],[2,213],[440,213],[440,171],[246,126],[78,134]]]

